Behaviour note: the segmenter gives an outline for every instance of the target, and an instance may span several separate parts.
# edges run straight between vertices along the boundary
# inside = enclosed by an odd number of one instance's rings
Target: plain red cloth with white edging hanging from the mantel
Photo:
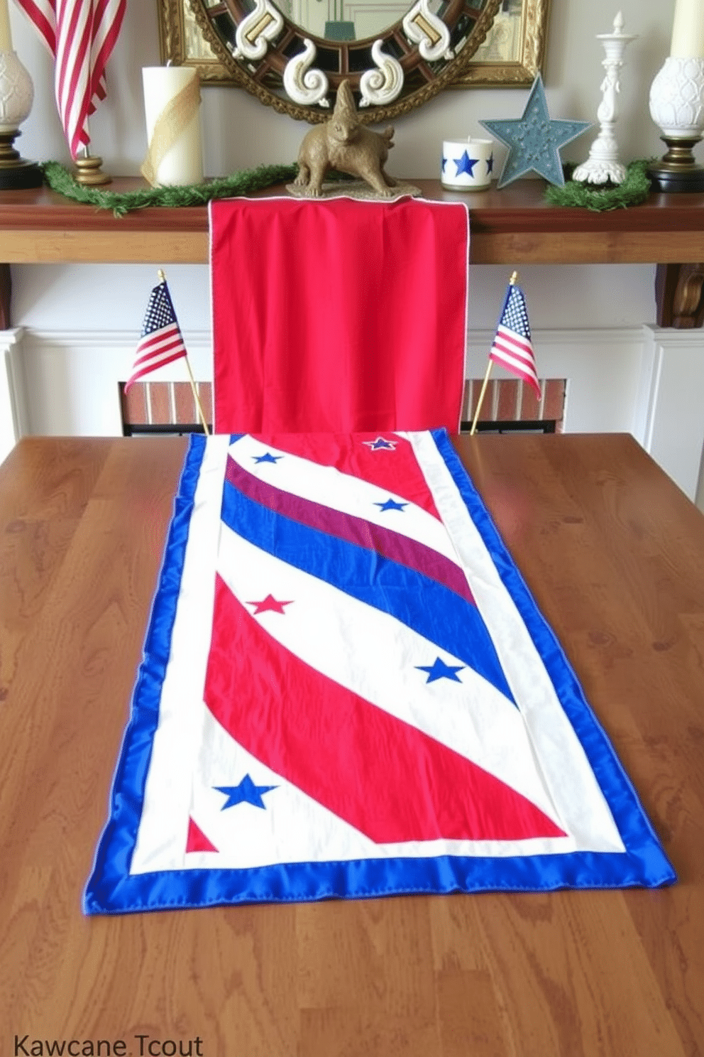
[[[211,202],[215,432],[459,429],[460,202]]]

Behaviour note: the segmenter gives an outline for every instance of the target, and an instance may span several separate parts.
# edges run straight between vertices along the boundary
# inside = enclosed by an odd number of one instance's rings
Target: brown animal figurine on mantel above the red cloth
[[[349,81],[338,89],[329,120],[317,125],[303,140],[299,151],[299,172],[293,181],[304,193],[318,198],[329,169],[359,177],[382,198],[391,198],[396,181],[384,172],[388,150],[394,146],[394,129],[373,132],[357,116]]]

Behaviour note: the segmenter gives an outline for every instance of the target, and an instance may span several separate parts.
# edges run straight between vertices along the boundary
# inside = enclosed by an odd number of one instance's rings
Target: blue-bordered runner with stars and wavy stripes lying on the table
[[[87,913],[674,879],[444,430],[191,440]]]

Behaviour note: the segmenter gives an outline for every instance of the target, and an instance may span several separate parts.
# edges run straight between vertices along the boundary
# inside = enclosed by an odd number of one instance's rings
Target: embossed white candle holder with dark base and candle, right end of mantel
[[[650,116],[668,151],[650,167],[662,191],[704,191],[692,148],[704,131],[704,0],[677,0],[670,55],[650,88]]]

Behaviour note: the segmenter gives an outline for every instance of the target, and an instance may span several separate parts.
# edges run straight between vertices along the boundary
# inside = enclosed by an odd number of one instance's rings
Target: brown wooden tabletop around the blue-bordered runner
[[[626,435],[458,446],[679,883],[83,917],[185,445],[27,439],[0,467],[0,1057],[704,1054],[704,518]]]

